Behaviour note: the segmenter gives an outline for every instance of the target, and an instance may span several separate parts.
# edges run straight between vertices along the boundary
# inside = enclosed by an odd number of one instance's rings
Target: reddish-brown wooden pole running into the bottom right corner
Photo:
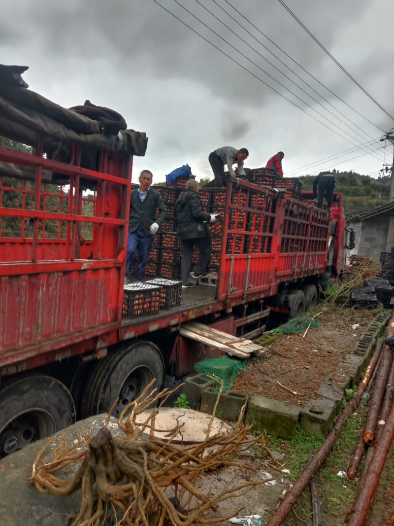
[[[374,499],[375,491],[385,466],[385,461],[391,444],[394,440],[394,404],[391,406],[389,417],[382,431],[381,437],[372,455],[367,476],[360,483],[359,492],[347,518],[347,526],[359,526],[364,524],[369,507]]]

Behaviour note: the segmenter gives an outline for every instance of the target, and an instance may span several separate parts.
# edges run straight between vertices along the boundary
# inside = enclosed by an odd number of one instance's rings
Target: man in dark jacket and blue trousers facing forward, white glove
[[[152,172],[142,170],[139,177],[140,187],[131,191],[125,284],[130,282],[131,267],[137,252],[139,258],[135,280],[141,281],[154,235],[167,216],[167,209],[161,195],[157,190],[150,188],[152,180]],[[158,217],[156,217],[157,210],[159,210]]]

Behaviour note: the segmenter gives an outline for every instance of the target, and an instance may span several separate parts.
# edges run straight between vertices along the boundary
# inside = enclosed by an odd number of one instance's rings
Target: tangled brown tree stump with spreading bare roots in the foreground
[[[82,437],[86,432],[82,429],[72,446],[62,436],[50,461],[44,460],[44,453],[54,439],[39,451],[29,478],[39,492],[65,496],[81,490],[80,510],[72,526],[101,526],[106,521],[119,526],[188,526],[228,521],[230,517],[206,518],[206,512],[217,509],[221,501],[240,497],[254,485],[266,482],[246,482],[215,497],[203,494],[197,481],[205,471],[220,466],[253,469],[237,460],[237,455],[254,446],[258,437],[251,438],[250,428],[242,425],[243,410],[234,429],[210,437],[212,416],[201,443],[173,443],[173,438],[182,433],[179,421],[167,430],[168,439],[155,438],[154,431],[163,431],[155,429],[155,417],[172,391],[165,389],[154,395],[155,390],[149,393],[152,383],[121,413],[118,425],[124,435],[112,436],[108,416],[105,427],[95,436],[91,428],[88,437]],[[148,408],[154,409],[144,413],[143,418],[149,416],[137,427],[137,417]],[[59,471],[69,464],[76,465],[71,480],[61,477],[61,473],[59,476]]]

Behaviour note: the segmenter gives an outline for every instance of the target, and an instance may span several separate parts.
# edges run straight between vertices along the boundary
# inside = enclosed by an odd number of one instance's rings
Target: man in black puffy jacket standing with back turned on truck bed
[[[177,217],[177,234],[181,238],[182,288],[193,287],[190,281],[193,247],[200,250],[200,258],[192,274],[193,278],[208,276],[208,264],[211,257],[211,242],[206,222],[215,222],[216,217],[206,214],[199,196],[199,184],[194,179],[186,183],[186,190],[178,198],[175,208]]]

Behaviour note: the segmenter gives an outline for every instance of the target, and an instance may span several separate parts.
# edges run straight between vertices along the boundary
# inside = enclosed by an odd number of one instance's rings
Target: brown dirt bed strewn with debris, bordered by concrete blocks
[[[232,389],[304,406],[309,400],[319,398],[317,391],[324,378],[356,347],[363,328],[375,316],[374,310],[322,312],[315,318],[320,327],[310,327],[305,337],[304,330],[283,335],[268,345],[267,355],[241,371]],[[352,329],[355,324],[360,328]]]

